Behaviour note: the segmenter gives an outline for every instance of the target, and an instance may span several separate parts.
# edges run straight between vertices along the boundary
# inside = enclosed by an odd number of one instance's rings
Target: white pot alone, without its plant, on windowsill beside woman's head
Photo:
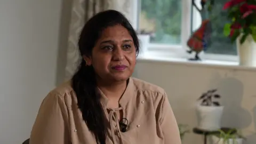
[[[139,57],[143,57],[148,52],[148,45],[150,42],[150,35],[138,35],[140,41],[140,53]]]

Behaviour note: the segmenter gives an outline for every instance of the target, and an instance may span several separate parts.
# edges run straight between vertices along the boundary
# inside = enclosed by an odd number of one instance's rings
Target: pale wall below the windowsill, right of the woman
[[[256,129],[256,68],[139,60],[134,77],[163,87],[178,123],[188,124],[190,129],[197,125],[196,99],[203,92],[217,88],[222,95],[221,104],[225,106],[222,126],[241,128],[248,138],[246,143],[256,143],[256,135],[253,135]],[[203,143],[203,137],[191,132],[185,135],[183,142]]]

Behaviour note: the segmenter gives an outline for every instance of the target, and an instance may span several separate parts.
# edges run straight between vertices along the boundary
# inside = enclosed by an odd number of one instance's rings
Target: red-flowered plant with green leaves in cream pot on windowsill
[[[227,11],[231,21],[226,23],[224,34],[230,37],[231,42],[236,41],[239,64],[256,66],[256,1],[231,0],[223,10]]]

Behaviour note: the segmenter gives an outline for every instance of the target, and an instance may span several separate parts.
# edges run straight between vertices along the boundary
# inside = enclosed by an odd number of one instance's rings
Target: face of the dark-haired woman
[[[129,31],[121,25],[103,30],[93,47],[91,58],[85,58],[92,65],[98,78],[107,81],[126,81],[133,73],[136,51]]]

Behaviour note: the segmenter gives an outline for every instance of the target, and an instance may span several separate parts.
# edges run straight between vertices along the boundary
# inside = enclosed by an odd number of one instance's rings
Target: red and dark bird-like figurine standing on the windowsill
[[[193,6],[196,7],[196,10],[201,14],[202,17],[202,24],[201,26],[194,31],[194,33],[190,36],[190,38],[187,41],[187,45],[190,50],[188,50],[188,53],[195,52],[195,58],[189,59],[189,60],[201,60],[198,57],[198,54],[201,51],[207,50],[207,47],[211,45],[211,21],[209,18],[209,11],[212,9],[213,0],[211,0],[211,4],[208,7],[208,9],[205,8],[206,0],[201,0],[202,9],[200,10],[197,5],[195,4],[194,0],[192,0]]]

